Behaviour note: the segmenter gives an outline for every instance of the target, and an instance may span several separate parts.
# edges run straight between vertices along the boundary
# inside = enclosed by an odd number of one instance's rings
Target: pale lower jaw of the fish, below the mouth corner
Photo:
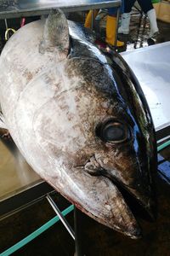
[[[65,189],[59,192],[82,212],[132,239],[141,237],[141,229],[133,213],[108,177],[92,176],[84,167],[72,168],[71,172],[62,170],[62,177],[65,178]],[[47,181],[59,190],[54,177],[48,177]]]

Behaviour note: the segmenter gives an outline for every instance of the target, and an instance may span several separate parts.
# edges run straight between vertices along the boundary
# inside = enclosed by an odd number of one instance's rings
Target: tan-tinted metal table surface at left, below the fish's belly
[[[0,141],[0,201],[42,182],[11,140]]]

